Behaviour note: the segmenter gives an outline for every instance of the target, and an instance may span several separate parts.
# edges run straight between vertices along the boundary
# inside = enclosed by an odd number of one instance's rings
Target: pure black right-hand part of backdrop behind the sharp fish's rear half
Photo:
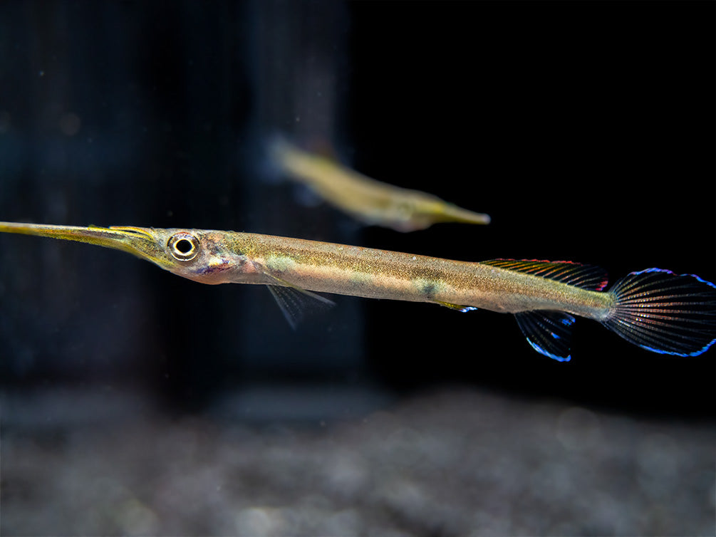
[[[714,39],[699,14],[712,6],[451,4],[444,19],[416,7],[379,21],[356,9],[354,29],[369,19],[371,38],[353,49],[353,140],[367,146],[355,165],[493,223],[410,236],[372,228],[364,241],[584,261],[612,281],[652,266],[713,279]],[[560,364],[531,353],[503,316],[410,306],[367,305],[374,348],[395,349],[378,367],[399,382],[463,378],[647,412],[713,411],[713,351],[659,357],[582,321]],[[384,315],[402,320],[390,340]]]

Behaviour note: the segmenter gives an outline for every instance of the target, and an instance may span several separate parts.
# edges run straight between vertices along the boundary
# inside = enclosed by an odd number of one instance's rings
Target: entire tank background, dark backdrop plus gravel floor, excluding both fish
[[[716,280],[712,2],[0,4],[0,220]],[[352,222],[276,133],[490,226]],[[712,534],[714,349],[267,289],[0,236],[7,534]]]

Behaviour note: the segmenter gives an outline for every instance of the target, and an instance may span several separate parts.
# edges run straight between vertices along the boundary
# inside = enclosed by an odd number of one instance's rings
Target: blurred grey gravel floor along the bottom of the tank
[[[465,389],[268,425],[127,400],[41,427],[4,398],[3,535],[715,534],[712,423]]]

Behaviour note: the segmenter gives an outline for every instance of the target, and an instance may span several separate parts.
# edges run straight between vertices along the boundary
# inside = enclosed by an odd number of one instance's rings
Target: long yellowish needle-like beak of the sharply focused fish
[[[165,248],[160,233],[152,228],[136,228],[132,226],[51,226],[32,223],[0,222],[0,232],[21,233],[40,237],[59,238],[63,241],[105,246],[132,253],[137,257],[152,261],[163,269],[170,266],[165,255]]]

